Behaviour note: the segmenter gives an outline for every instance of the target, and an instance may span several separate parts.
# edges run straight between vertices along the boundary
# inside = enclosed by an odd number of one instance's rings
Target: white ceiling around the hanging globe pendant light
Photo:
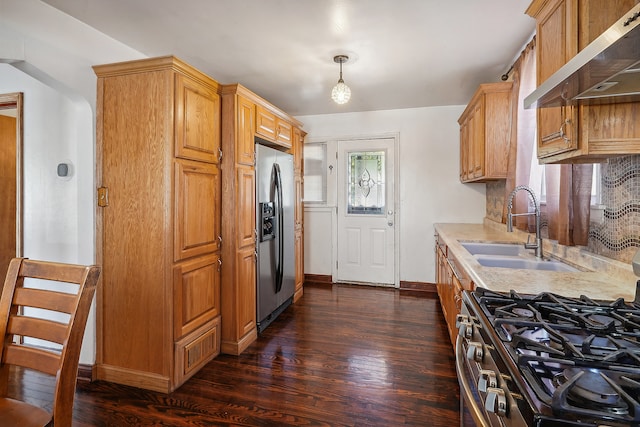
[[[292,115],[466,104],[531,39],[531,0],[43,0]],[[339,65],[348,104],[331,101]]]

